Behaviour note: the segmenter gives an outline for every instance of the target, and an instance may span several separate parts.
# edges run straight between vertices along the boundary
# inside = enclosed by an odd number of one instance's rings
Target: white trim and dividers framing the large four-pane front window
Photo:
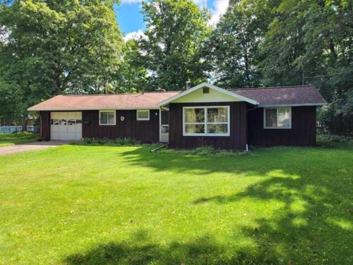
[[[200,134],[187,134],[185,133],[185,109],[187,108],[203,108],[204,109],[204,116],[205,116],[205,121],[204,122],[188,122],[187,124],[204,124],[205,126],[205,132],[200,133]],[[227,108],[227,122],[207,122],[207,108]],[[226,134],[212,134],[212,133],[207,133],[207,124],[228,124],[227,131],[228,133]],[[230,136],[231,135],[231,117],[230,117],[230,108],[229,106],[193,106],[193,107],[183,107],[183,136]]]

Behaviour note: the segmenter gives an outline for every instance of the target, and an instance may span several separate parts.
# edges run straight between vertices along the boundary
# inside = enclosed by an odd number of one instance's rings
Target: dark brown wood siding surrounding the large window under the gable
[[[230,136],[183,136],[183,107],[230,106]],[[169,147],[194,148],[209,145],[222,149],[246,148],[246,103],[207,102],[169,104]]]

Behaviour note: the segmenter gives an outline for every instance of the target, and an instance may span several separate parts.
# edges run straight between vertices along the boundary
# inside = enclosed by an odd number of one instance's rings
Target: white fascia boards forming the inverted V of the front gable
[[[233,98],[236,98],[236,99],[240,99],[240,100],[249,102],[249,103],[254,104],[254,105],[257,105],[257,104],[259,103],[259,102],[257,102],[256,100],[250,99],[250,98],[248,98],[248,97],[246,97],[246,96],[243,96],[243,95],[240,95],[240,94],[237,94],[237,93],[232,93],[232,92],[230,92],[230,91],[228,91],[228,90],[226,90],[226,89],[217,87],[217,86],[215,86],[215,85],[211,85],[211,84],[209,84],[209,83],[207,83],[207,82],[203,82],[203,83],[201,83],[201,84],[198,84],[198,85],[195,86],[195,87],[192,87],[192,88],[189,88],[189,89],[187,89],[187,90],[184,90],[183,92],[181,92],[181,93],[179,93],[179,94],[177,94],[177,95],[174,95],[174,96],[172,96],[172,97],[169,98],[169,99],[166,99],[166,100],[163,100],[163,101],[159,102],[159,103],[157,104],[157,106],[162,107],[162,106],[164,106],[164,105],[167,105],[168,103],[172,102],[173,100],[176,100],[176,99],[178,99],[178,98],[181,98],[182,96],[185,96],[185,95],[187,95],[187,94],[189,94],[189,93],[191,93],[191,92],[193,92],[193,91],[195,91],[195,90],[197,90],[197,89],[199,89],[199,88],[203,88],[203,87],[208,87],[208,88],[214,89],[214,90],[216,90],[216,91],[218,91],[218,92],[224,93],[224,94],[226,94],[226,95],[228,95],[228,96],[232,96]]]

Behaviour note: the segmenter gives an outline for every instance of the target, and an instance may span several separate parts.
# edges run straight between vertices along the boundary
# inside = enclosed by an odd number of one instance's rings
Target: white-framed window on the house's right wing
[[[264,108],[264,128],[265,129],[291,129],[292,110],[285,108]]]

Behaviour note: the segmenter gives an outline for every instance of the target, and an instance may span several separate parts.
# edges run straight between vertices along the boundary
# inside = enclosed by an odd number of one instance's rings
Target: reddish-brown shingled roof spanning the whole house
[[[145,92],[103,95],[58,95],[28,108],[29,111],[142,110],[161,106],[199,88],[209,87],[259,107],[320,106],[327,102],[314,86],[243,88],[225,90],[201,83],[183,92]]]

